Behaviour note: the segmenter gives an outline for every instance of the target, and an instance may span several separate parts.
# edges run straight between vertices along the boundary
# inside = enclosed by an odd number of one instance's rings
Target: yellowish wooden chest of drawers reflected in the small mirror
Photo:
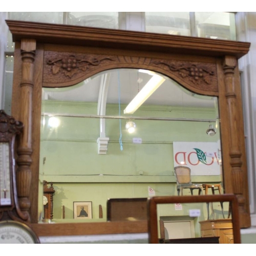
[[[220,244],[233,244],[231,219],[200,221],[201,237],[219,237]]]

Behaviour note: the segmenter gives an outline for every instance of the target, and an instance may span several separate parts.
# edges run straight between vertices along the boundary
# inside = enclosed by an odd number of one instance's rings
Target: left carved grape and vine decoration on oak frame
[[[47,64],[52,65],[52,73],[56,75],[62,72],[69,78],[79,71],[86,71],[92,66],[98,66],[103,60],[114,60],[110,57],[102,57],[97,59],[95,57],[88,59],[79,59],[74,55],[63,58],[55,58],[54,60],[48,60]]]

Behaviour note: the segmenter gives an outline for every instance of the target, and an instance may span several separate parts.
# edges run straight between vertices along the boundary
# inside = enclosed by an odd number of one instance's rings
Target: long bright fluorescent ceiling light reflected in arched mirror
[[[126,106],[124,114],[133,114],[143,102],[150,97],[159,86],[165,81],[165,78],[159,75],[154,75],[134,97],[134,99]]]

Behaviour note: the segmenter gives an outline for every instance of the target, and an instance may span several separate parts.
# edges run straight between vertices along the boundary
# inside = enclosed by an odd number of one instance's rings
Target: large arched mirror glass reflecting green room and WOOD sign
[[[109,198],[178,195],[180,165],[191,183],[223,193],[217,97],[153,71],[115,69],[43,88],[40,136],[39,213],[43,181],[53,183],[55,222],[105,221]],[[88,216],[79,217],[82,207]]]

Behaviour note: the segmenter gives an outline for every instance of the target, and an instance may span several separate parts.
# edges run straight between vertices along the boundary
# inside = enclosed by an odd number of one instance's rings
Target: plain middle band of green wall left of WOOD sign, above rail
[[[123,151],[109,143],[107,155],[97,154],[96,142],[47,141],[44,146],[44,175],[173,175],[170,144],[125,143]],[[160,154],[160,156],[158,155]]]

